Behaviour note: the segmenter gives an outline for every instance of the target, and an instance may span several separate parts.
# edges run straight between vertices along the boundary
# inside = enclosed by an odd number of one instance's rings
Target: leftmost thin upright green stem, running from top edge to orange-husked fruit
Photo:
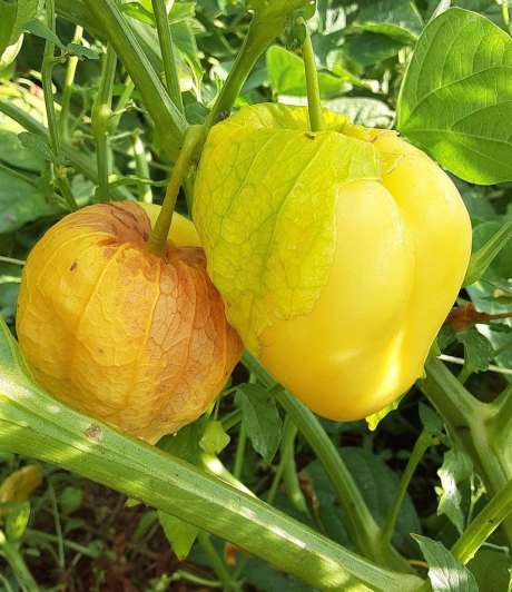
[[[55,32],[56,30],[56,12],[55,12],[55,0],[46,1],[46,24],[47,27]],[[55,45],[51,41],[46,41],[45,53],[42,59],[41,68],[41,79],[42,79],[42,90],[45,96],[45,106],[47,111],[48,119],[48,131],[50,136],[50,146],[53,155],[53,171],[56,176],[56,184],[60,189],[66,203],[69,206],[69,209],[77,209],[77,201],[71,191],[69,185],[66,167],[61,162],[61,150],[60,150],[60,134],[59,126],[57,122],[56,108],[53,102],[53,90],[52,90],[52,72],[55,66]]]

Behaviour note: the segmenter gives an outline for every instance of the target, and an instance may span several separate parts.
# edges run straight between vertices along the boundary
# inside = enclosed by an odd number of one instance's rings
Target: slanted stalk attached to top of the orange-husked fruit
[[[184,145],[174,166],[160,214],[148,239],[148,250],[158,257],[164,255],[179,189],[204,141],[204,137],[205,129],[203,126],[190,126],[185,135]]]

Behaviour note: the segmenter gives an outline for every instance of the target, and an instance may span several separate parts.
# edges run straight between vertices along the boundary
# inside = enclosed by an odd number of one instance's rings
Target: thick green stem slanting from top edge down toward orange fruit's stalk
[[[184,116],[170,100],[116,0],[83,0],[83,3],[95,21],[101,23],[105,34],[142,96],[155,127],[163,130],[164,149],[175,160],[187,128]]]

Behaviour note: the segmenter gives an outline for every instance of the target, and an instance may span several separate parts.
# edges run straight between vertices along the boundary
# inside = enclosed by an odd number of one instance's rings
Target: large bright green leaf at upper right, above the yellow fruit
[[[511,118],[510,36],[473,12],[443,12],[408,66],[400,131],[462,179],[491,185],[512,180]]]

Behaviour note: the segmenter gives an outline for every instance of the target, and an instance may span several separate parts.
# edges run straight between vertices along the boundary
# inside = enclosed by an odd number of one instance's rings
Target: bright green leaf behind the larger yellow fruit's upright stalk
[[[267,51],[267,70],[274,92],[306,97],[304,62],[298,56],[279,46],[272,46]],[[318,72],[318,83],[323,97],[349,90],[346,78],[339,78],[331,72]]]

